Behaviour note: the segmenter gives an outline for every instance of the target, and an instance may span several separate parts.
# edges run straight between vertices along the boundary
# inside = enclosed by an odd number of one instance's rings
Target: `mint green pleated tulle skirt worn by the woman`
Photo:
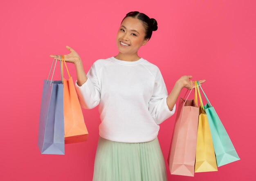
[[[93,181],[167,181],[158,138],[121,143],[99,136]]]

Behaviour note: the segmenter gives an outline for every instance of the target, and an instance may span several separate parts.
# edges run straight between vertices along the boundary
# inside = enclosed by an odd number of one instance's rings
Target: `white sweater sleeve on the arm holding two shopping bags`
[[[87,80],[81,86],[77,84],[76,80],[75,88],[81,107],[92,109],[99,105],[101,98],[101,90],[94,63],[86,76]]]

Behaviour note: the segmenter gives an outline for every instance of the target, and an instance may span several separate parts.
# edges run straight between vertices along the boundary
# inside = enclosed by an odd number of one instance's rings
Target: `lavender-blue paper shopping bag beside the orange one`
[[[65,154],[63,84],[61,80],[50,81],[49,76],[43,82],[37,145],[41,154]]]

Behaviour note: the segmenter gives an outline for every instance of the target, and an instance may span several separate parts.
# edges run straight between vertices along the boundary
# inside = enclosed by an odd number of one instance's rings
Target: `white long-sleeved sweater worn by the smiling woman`
[[[124,143],[152,141],[159,124],[171,117],[166,102],[168,92],[159,68],[144,58],[137,61],[115,57],[96,60],[79,86],[75,82],[81,107],[99,105],[99,135]]]

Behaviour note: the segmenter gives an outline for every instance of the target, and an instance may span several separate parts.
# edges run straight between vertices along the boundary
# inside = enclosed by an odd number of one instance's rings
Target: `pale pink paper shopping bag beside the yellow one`
[[[187,100],[188,97],[186,100],[180,98],[179,101],[167,162],[171,174],[193,177],[199,107],[195,105],[195,100]]]

